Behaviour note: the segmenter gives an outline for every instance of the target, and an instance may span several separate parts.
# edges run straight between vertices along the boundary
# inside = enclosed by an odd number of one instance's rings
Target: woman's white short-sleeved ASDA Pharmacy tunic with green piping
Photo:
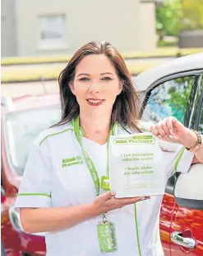
[[[142,124],[149,126],[148,123]],[[118,134],[126,134],[118,127]],[[107,144],[99,145],[82,138],[82,145],[95,164],[99,178],[107,174]],[[165,183],[175,171],[188,171],[193,159],[182,146],[160,141],[165,159]],[[184,150],[184,149],[183,149]],[[176,170],[174,168],[175,163]],[[85,163],[81,146],[69,124],[44,130],[35,140],[25,166],[15,210],[20,207],[62,207],[90,204],[96,197],[95,183]],[[163,196],[137,202],[136,205],[109,211],[107,218],[115,225],[118,250],[109,256],[158,256],[159,209]],[[48,256],[99,256],[97,225],[101,216],[85,220],[72,228],[45,235]]]

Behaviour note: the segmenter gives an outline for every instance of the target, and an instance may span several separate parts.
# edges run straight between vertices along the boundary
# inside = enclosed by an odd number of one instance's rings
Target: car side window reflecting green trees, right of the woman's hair
[[[168,116],[184,122],[187,102],[195,76],[175,78],[159,84],[150,92],[142,119],[157,123]]]

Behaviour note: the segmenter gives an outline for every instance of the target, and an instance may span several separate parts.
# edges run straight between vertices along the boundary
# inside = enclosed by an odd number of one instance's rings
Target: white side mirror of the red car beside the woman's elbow
[[[188,173],[181,173],[174,197],[179,206],[203,210],[203,164],[193,164]]]

